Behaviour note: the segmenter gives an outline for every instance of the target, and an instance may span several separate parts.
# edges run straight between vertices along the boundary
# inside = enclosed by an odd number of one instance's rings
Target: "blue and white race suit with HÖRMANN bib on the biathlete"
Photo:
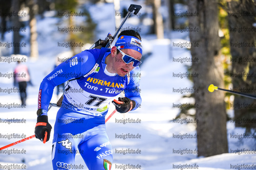
[[[52,143],[53,169],[73,169],[80,153],[90,170],[110,169],[113,151],[105,116],[113,98],[123,90],[125,96],[141,104],[139,66],[125,77],[107,71],[105,59],[109,48],[86,50],[58,65],[40,85],[38,108],[47,115],[55,86],[70,79],[65,87],[62,107],[58,110]],[[102,60],[98,60],[99,58]],[[101,59],[100,58],[100,59]],[[97,61],[99,63],[97,63]]]

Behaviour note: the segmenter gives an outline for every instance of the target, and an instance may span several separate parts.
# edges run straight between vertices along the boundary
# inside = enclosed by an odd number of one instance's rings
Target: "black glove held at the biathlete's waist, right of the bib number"
[[[136,102],[133,100],[130,100],[129,98],[118,98],[119,101],[124,102],[123,104],[119,104],[116,103],[115,101],[112,101],[112,103],[115,105],[115,109],[119,112],[119,113],[126,113],[130,110],[132,110],[135,105]]]

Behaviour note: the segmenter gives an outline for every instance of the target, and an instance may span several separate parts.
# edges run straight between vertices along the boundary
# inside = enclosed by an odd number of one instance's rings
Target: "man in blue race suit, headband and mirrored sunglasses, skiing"
[[[58,110],[52,142],[53,169],[72,169],[80,153],[90,170],[111,169],[112,148],[105,115],[113,98],[125,91],[123,104],[112,101],[120,113],[135,110],[141,104],[139,90],[142,45],[133,30],[120,33],[115,46],[86,50],[58,65],[46,76],[38,93],[35,137],[43,140],[51,125],[47,110],[53,88],[68,80],[62,107]],[[139,74],[138,74],[139,73]],[[74,79],[75,80],[72,80]]]

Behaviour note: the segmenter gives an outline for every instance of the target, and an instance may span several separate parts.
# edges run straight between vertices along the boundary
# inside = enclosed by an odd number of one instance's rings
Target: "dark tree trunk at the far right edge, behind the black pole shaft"
[[[239,47],[235,46],[239,43],[255,43],[255,32],[254,31],[239,31],[239,28],[251,29],[253,28],[253,23],[255,22],[254,16],[235,16],[234,14],[246,14],[255,13],[255,4],[253,1],[230,1],[228,2],[228,21],[229,21],[229,35],[230,35],[230,52],[232,55],[232,83],[233,89],[235,91],[256,94],[253,92],[255,89],[256,79],[255,76],[249,77],[247,75],[241,77],[233,77],[239,74],[256,74],[256,62],[249,61],[247,59],[256,58],[255,45]],[[235,30],[237,29],[237,30]],[[231,76],[230,75],[230,76]],[[256,100],[241,97],[235,95],[233,108],[234,109],[234,118],[235,120],[251,120],[256,119],[256,108],[255,107],[246,107],[247,105],[253,105],[256,103]],[[245,104],[245,105],[244,105]],[[240,106],[245,106],[239,108]],[[235,126],[237,127],[246,127],[249,130],[252,127],[256,127],[256,124],[248,123],[247,121],[235,121]]]

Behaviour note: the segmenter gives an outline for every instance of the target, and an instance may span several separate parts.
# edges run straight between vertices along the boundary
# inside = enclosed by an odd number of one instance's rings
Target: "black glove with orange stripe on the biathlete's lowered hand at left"
[[[41,141],[45,138],[45,131],[47,131],[47,139],[50,139],[51,125],[48,123],[48,116],[37,116],[37,123],[35,125],[35,137]]]

